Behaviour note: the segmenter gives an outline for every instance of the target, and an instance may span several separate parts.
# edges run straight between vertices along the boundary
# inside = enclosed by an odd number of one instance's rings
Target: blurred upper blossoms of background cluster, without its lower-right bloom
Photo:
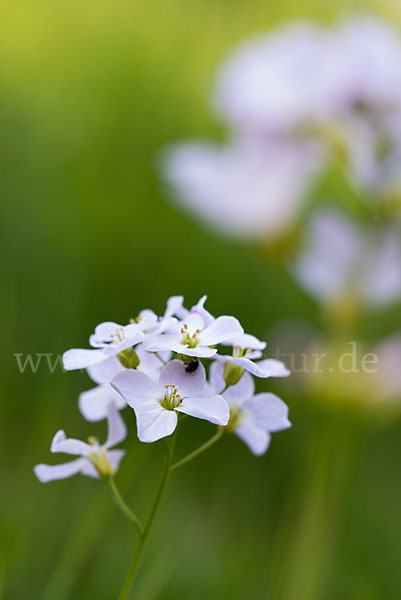
[[[300,22],[252,39],[223,63],[213,106],[229,143],[178,144],[164,173],[219,229],[286,235],[316,176],[333,165],[378,205],[399,208],[401,39],[385,21]]]

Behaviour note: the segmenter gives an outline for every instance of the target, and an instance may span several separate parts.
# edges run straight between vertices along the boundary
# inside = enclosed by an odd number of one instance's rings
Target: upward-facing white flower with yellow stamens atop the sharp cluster
[[[171,351],[185,356],[211,358],[217,352],[211,346],[242,333],[243,329],[234,317],[218,317],[206,325],[200,314],[188,313],[166,333],[148,335],[143,347],[148,352]]]

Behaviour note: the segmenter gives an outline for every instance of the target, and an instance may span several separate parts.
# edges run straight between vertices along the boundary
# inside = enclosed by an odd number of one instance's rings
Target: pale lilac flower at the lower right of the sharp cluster
[[[221,386],[224,386],[223,365],[213,363],[209,391]],[[291,427],[287,405],[270,392],[255,394],[255,384],[248,373],[223,396],[230,406],[227,430],[238,435],[256,455],[266,452],[271,433]]]

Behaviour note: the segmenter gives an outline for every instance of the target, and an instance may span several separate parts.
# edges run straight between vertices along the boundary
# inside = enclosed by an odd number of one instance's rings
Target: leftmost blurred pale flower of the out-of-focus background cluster
[[[209,224],[243,237],[278,237],[296,220],[320,163],[305,144],[193,143],[166,153],[164,174],[179,200]]]

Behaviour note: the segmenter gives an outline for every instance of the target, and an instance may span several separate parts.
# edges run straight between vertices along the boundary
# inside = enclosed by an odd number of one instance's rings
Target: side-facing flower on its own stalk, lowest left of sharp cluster
[[[96,438],[89,438],[89,443],[67,438],[64,431],[56,433],[51,443],[51,452],[78,455],[79,458],[61,465],[36,465],[37,478],[46,483],[54,479],[64,479],[77,473],[89,477],[111,477],[117,471],[124,450],[111,450],[122,442],[127,435],[124,421],[114,404],[108,407],[108,436],[105,444],[100,445]]]

